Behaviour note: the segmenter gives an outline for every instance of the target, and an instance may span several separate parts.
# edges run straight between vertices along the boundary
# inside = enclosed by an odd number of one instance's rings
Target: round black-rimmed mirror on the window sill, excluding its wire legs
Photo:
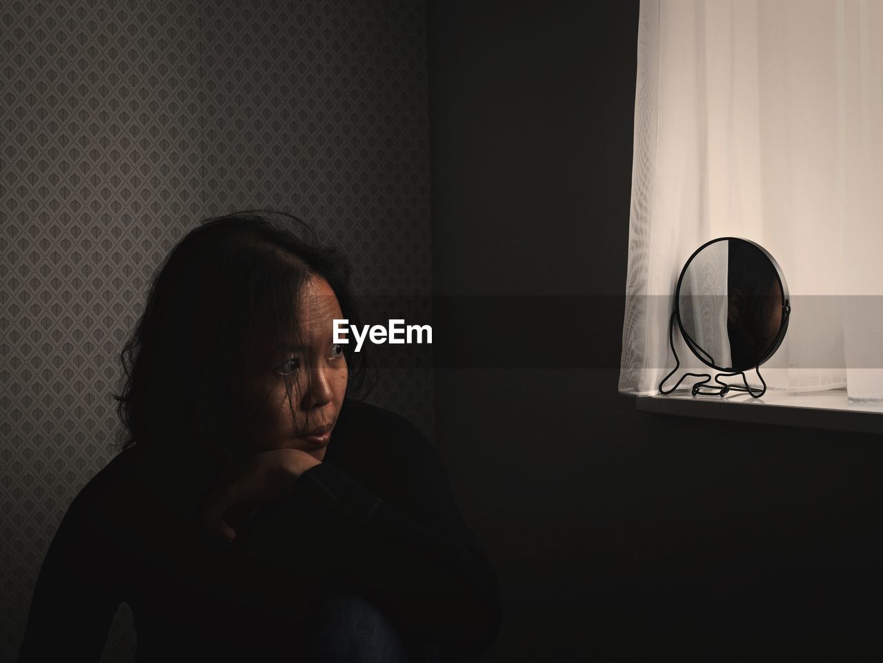
[[[789,294],[781,269],[748,239],[719,237],[693,252],[677,281],[675,302],[687,346],[718,371],[763,364],[788,328]]]

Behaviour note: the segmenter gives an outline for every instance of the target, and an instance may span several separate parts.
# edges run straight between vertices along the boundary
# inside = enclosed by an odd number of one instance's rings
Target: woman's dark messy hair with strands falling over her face
[[[343,318],[358,324],[349,262],[319,245],[297,217],[245,210],[188,232],[158,269],[120,353],[124,386],[114,398],[122,448],[208,452],[223,463],[243,462],[260,409],[246,380],[285,342],[297,344],[297,297],[312,275],[328,282]],[[343,345],[347,396],[366,390],[366,357],[352,347]],[[291,378],[286,385],[291,406]]]

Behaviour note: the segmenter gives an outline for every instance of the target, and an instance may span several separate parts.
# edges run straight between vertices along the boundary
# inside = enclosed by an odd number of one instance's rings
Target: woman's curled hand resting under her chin
[[[294,482],[320,462],[305,451],[277,448],[254,455],[253,463],[227,486],[211,493],[202,510],[208,533],[232,541],[236,531],[228,523],[230,512],[248,509],[251,516],[265,504],[288,494]]]

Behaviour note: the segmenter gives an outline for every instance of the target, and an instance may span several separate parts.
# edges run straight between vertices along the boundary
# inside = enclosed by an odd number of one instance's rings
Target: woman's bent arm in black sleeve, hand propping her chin
[[[430,442],[403,418],[390,423],[401,488],[395,504],[321,463],[256,516],[248,551],[289,570],[304,564],[340,574],[439,644],[487,648],[501,620],[491,563],[464,524]]]

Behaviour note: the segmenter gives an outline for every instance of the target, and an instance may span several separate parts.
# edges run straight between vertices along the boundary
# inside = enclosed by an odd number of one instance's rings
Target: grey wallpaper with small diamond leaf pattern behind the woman
[[[200,218],[312,222],[366,295],[428,295],[425,5],[0,3],[0,659],[73,496],[116,452],[117,353]],[[424,320],[426,321],[426,320]],[[428,367],[372,400],[433,428]],[[132,658],[121,607],[105,660]]]

